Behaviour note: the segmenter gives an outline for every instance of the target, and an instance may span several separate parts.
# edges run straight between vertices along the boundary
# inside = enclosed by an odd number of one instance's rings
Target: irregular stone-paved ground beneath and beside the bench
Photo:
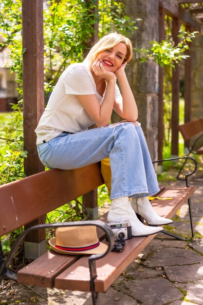
[[[194,240],[185,242],[157,234],[107,292],[101,294],[101,305],[203,305],[203,178],[190,184],[196,186],[192,197]],[[178,211],[170,230],[190,237],[187,204]],[[90,293],[9,282],[1,286],[0,295],[0,305],[7,304],[92,305],[92,301]]]

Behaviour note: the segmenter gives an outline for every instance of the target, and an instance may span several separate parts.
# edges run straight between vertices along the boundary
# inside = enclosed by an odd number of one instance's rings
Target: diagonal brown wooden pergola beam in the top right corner
[[[183,24],[191,26],[195,30],[201,32],[202,23],[200,20],[180,7],[178,2],[177,5],[171,5],[171,2],[168,0],[159,0],[159,4],[166,10],[168,16],[181,19]]]

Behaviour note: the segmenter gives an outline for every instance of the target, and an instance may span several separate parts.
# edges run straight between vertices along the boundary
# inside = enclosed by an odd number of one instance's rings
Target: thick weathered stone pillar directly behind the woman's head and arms
[[[146,48],[151,40],[158,41],[158,0],[125,0],[124,2],[126,15],[133,20],[142,19],[137,21],[138,30],[130,37],[133,47]],[[140,63],[136,58],[135,54],[130,64],[131,67],[127,70],[128,78],[138,106],[138,121],[142,124],[151,158],[156,160],[158,147],[158,69],[153,61]]]

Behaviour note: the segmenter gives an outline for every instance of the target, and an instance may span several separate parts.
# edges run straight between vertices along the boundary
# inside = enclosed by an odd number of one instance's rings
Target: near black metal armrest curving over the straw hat
[[[89,257],[89,268],[90,268],[90,286],[91,286],[91,292],[92,292],[92,304],[93,305],[99,305],[99,295],[98,292],[94,291],[94,279],[96,278],[96,263],[95,261],[106,256],[111,249],[114,246],[115,237],[114,234],[109,226],[106,225],[101,220],[88,220],[88,221],[74,221],[74,222],[64,222],[64,223],[53,223],[53,224],[42,224],[33,226],[29,229],[26,229],[24,232],[22,232],[13,248],[11,249],[8,257],[6,260],[4,260],[2,247],[0,244],[0,281],[3,278],[6,278],[8,280],[17,281],[17,274],[14,273],[9,269],[9,265],[11,264],[12,259],[15,256],[16,251],[18,250],[19,244],[24,239],[24,237],[31,231],[37,230],[37,229],[48,229],[48,228],[59,228],[59,227],[72,227],[72,226],[96,226],[100,229],[102,229],[105,234],[108,241],[108,248],[107,251],[102,254],[92,254]]]

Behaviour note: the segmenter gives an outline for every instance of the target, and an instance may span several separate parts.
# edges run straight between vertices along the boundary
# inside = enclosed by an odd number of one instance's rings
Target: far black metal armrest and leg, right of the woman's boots
[[[157,161],[153,161],[152,163],[158,163],[158,162],[165,162],[165,161],[173,161],[173,160],[180,160],[180,159],[185,159],[185,162],[187,161],[187,159],[190,159],[194,162],[195,164],[195,169],[192,171],[192,172],[189,172],[187,174],[185,174],[185,184],[186,184],[186,187],[188,188],[189,187],[189,184],[188,184],[188,177],[193,175],[196,171],[197,171],[197,167],[198,167],[198,163],[197,161],[195,160],[195,158],[191,157],[191,156],[184,156],[184,157],[174,157],[174,158],[169,158],[169,159],[164,159],[164,160],[157,160]],[[184,162],[184,164],[185,164]],[[183,168],[183,166],[182,166]],[[181,168],[181,169],[182,169]],[[180,173],[180,172],[179,172]],[[178,176],[177,176],[178,178]],[[180,180],[180,179],[179,179]],[[193,228],[193,221],[192,221],[192,209],[191,209],[191,198],[188,198],[187,200],[187,203],[188,203],[188,209],[189,209],[189,217],[190,217],[190,227],[191,227],[191,238],[193,238],[194,236],[194,228]],[[185,238],[181,237],[181,236],[178,236],[176,234],[173,234],[171,232],[168,232],[167,230],[163,230],[162,233],[166,234],[166,235],[169,235],[169,236],[172,236],[176,239],[179,239],[179,240],[184,240],[184,241],[187,241],[185,240]]]

